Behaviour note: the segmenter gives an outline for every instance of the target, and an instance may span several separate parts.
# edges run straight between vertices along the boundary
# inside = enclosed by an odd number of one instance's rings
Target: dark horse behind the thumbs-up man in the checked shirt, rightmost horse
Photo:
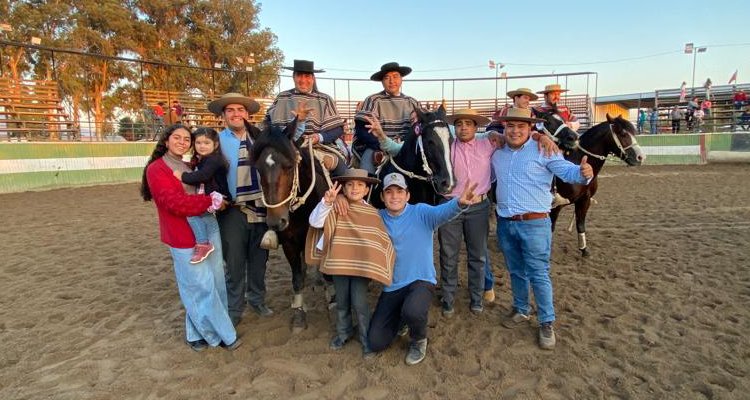
[[[614,154],[629,166],[641,165],[645,156],[635,139],[636,130],[622,116],[612,118],[607,114],[607,121],[594,125],[580,135],[578,148],[565,153],[565,159],[576,164],[581,163],[583,156],[588,156],[588,163],[594,169],[594,178],[588,185],[572,185],[555,178],[557,191],[561,196],[575,204],[576,230],[578,231],[578,249],[584,257],[589,256],[586,246],[586,213],[591,205],[591,198],[598,187],[597,176],[607,160],[607,155]],[[552,229],[555,229],[560,210],[563,206],[552,209]]]

